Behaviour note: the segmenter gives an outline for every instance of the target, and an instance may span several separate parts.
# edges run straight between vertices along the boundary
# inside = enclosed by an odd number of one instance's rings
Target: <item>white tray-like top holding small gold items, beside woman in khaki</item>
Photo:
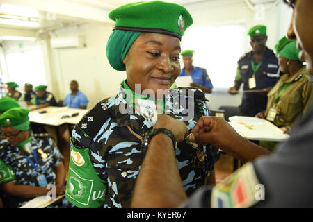
[[[241,136],[251,140],[284,141],[289,138],[288,134],[266,119],[257,117],[233,116],[228,118],[230,125]]]

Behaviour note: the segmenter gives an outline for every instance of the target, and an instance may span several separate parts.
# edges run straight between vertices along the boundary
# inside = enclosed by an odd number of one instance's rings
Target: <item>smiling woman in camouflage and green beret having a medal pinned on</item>
[[[142,1],[120,6],[109,17],[116,23],[106,56],[127,78],[118,94],[100,101],[73,130],[67,200],[77,207],[130,207],[147,144],[159,133],[175,144],[188,195],[214,184],[218,149],[176,141],[171,130],[157,127],[159,116],[168,114],[186,123],[188,135],[209,114],[200,90],[169,90],[181,70],[180,40],[193,23],[191,15],[175,3]]]

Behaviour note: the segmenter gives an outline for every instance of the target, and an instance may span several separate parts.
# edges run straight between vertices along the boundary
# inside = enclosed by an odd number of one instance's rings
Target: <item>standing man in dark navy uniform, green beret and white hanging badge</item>
[[[241,56],[238,61],[234,86],[228,89],[237,94],[243,83],[243,97],[239,106],[241,115],[254,117],[266,109],[267,92],[278,81],[278,58],[273,50],[266,47],[266,26],[252,27],[248,34],[252,51]]]

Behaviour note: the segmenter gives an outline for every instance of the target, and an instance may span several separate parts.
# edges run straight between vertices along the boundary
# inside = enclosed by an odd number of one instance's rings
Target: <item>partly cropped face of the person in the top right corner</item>
[[[301,60],[306,60],[307,71],[313,75],[313,1],[298,0],[295,3],[291,24],[287,36],[291,40],[297,40],[300,49]]]

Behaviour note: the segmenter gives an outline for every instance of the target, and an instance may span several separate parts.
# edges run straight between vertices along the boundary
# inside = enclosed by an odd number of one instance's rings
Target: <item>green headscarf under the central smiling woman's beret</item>
[[[125,71],[123,59],[139,35],[141,32],[120,29],[115,29],[111,33],[108,44],[106,44],[106,57],[113,69]]]

